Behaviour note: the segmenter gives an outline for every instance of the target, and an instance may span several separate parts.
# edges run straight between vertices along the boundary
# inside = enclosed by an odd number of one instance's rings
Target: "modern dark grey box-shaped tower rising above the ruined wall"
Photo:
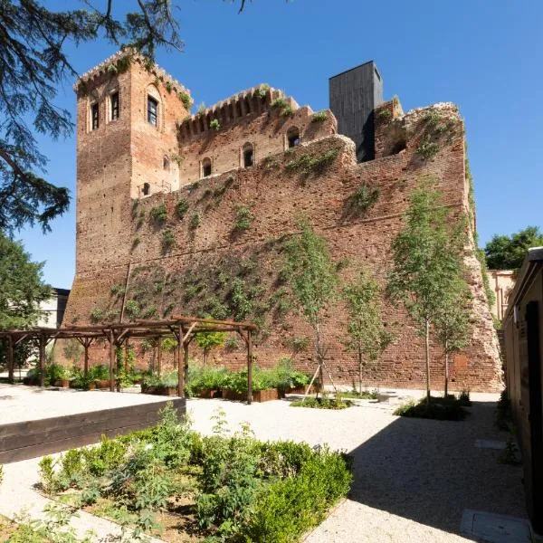
[[[330,110],[338,132],[357,146],[359,162],[374,157],[374,110],[383,102],[383,80],[376,63],[366,62],[329,79]]]

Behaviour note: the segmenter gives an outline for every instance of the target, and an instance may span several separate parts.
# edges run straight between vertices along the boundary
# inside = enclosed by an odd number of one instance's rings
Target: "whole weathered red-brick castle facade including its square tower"
[[[122,73],[108,65],[85,76],[86,91],[78,94],[77,269],[65,325],[135,314],[243,313],[261,325],[257,363],[271,366],[292,354],[293,339],[310,339],[281,277],[282,243],[296,231],[297,217],[308,216],[325,237],[342,282],[363,266],[384,284],[390,243],[421,177],[434,177],[443,205],[455,215],[469,211],[463,123],[452,104],[404,114],[397,100],[386,102],[375,112],[376,158],[357,163],[354,144],[336,134],[330,111],[315,118],[310,108],[298,108],[277,90],[260,86],[190,117],[178,98],[186,90],[166,74],[147,71],[137,60]],[[105,100],[104,115],[106,95],[117,86],[119,119],[108,123],[104,116],[99,129],[90,130],[92,100]],[[148,94],[158,101],[157,127],[146,116]],[[214,119],[218,129],[210,128]],[[300,145],[288,148],[292,127]],[[420,148],[428,142],[435,143],[435,152],[424,158]],[[252,167],[243,167],[247,144]],[[300,157],[325,159],[304,174],[310,160]],[[211,176],[201,178],[207,158]],[[150,195],[142,193],[145,183]],[[367,212],[357,213],[352,196],[362,183],[379,196]],[[162,204],[166,221],[153,219]],[[241,207],[252,216],[244,230],[235,227]],[[472,248],[465,260],[476,322],[469,347],[452,362],[452,388],[498,390],[498,344]],[[243,310],[240,296],[248,304]],[[367,385],[424,386],[424,343],[414,323],[386,300],[383,316],[394,340],[367,365]],[[329,311],[325,336],[332,376],[351,384],[357,363],[344,347],[345,322],[338,302]],[[93,349],[94,361],[105,357],[104,348]],[[212,358],[232,367],[244,364],[243,349],[233,343]],[[293,359],[300,369],[313,367],[310,348]],[[443,386],[437,346],[432,384]]]

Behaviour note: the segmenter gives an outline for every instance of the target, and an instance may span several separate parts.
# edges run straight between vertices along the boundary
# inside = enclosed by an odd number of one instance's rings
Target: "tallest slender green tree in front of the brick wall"
[[[458,272],[458,227],[441,204],[434,179],[425,178],[413,191],[405,228],[392,243],[393,269],[388,276],[391,300],[403,302],[425,338],[426,397],[430,401],[430,330],[443,309],[444,295]]]

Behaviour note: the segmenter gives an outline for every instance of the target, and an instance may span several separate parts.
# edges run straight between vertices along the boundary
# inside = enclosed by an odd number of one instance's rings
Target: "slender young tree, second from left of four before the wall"
[[[360,271],[357,280],[343,288],[343,299],[347,303],[348,321],[346,341],[349,350],[357,354],[358,392],[362,394],[364,357],[376,360],[392,340],[381,318],[379,284]]]

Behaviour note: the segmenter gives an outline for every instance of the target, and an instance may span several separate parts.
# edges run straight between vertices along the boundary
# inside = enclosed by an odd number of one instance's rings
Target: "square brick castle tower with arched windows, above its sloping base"
[[[123,219],[131,198],[179,186],[176,122],[188,91],[156,65],[118,52],[77,87],[77,273],[129,262]]]

